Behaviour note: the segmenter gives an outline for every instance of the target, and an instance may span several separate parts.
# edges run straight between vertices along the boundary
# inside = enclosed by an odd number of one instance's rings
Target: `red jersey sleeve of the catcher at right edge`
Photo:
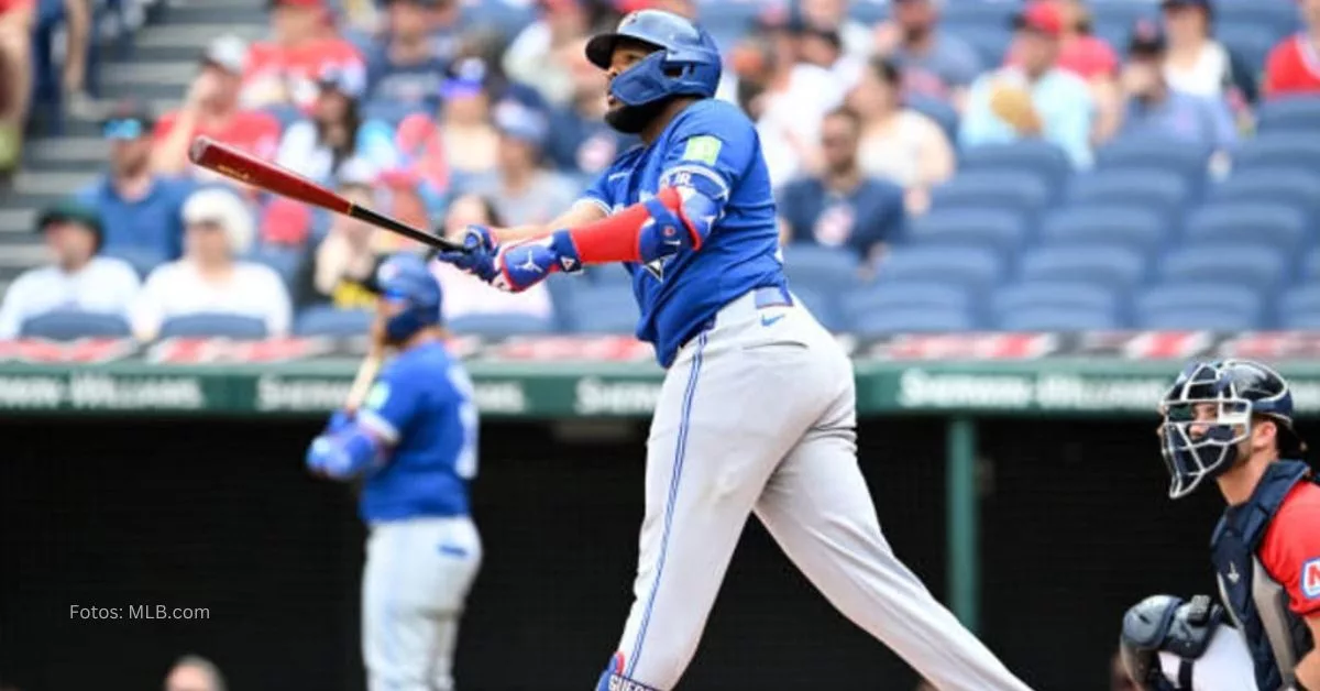
[[[1302,617],[1320,613],[1320,485],[1299,482],[1288,491],[1257,556],[1288,591],[1288,609]]]

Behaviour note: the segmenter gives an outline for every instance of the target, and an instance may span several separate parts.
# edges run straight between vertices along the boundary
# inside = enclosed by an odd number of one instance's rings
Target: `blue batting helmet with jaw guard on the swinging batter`
[[[701,26],[672,12],[642,9],[619,21],[612,33],[591,37],[586,57],[610,69],[614,46],[640,41],[656,52],[632,65],[610,83],[610,94],[624,106],[644,106],[669,96],[715,95],[719,86],[719,48]]]

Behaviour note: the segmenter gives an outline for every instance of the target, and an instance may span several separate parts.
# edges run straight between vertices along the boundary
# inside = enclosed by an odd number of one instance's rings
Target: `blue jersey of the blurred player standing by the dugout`
[[[392,444],[366,476],[363,521],[466,515],[477,474],[477,404],[444,344],[408,349],[372,384],[358,423]]]

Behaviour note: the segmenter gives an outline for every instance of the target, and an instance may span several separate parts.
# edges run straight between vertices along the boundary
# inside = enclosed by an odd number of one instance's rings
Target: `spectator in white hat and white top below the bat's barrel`
[[[131,310],[133,334],[150,341],[165,320],[198,313],[257,317],[269,336],[288,333],[292,309],[279,273],[238,259],[256,235],[247,203],[223,188],[202,189],[183,203],[183,256],[147,277]]]

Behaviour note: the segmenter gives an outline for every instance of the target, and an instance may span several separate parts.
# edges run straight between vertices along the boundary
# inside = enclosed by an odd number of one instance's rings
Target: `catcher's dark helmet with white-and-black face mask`
[[[1199,404],[1214,406],[1214,418],[1197,420]],[[1251,418],[1263,415],[1279,427],[1279,453],[1296,457],[1305,444],[1292,428],[1292,394],[1279,374],[1249,359],[1188,365],[1164,395],[1160,444],[1172,484],[1171,498],[1189,494],[1206,477],[1238,461],[1238,444],[1251,436]],[[1192,428],[1204,428],[1193,436]]]

